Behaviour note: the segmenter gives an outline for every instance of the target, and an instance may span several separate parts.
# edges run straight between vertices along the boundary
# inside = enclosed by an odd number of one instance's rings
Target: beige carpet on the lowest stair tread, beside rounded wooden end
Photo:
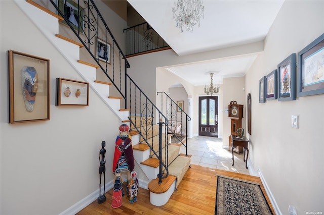
[[[190,157],[178,156],[175,161],[169,166],[169,175],[177,177],[176,188],[180,184],[184,175],[190,166]]]

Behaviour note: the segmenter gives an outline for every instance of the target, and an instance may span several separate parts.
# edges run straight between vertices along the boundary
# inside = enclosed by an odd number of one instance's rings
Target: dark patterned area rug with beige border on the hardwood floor
[[[273,214],[260,185],[218,176],[215,214]]]

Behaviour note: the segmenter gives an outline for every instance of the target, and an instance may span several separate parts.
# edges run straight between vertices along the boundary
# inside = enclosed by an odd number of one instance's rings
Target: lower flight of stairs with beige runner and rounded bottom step
[[[191,156],[180,155],[180,145],[171,144],[170,142],[172,135],[163,134],[162,160],[165,162],[168,159],[171,165],[168,167],[169,176],[162,179],[162,183],[159,183],[159,178],[157,178],[157,174],[159,174],[159,159],[157,159],[156,155],[150,149],[151,146],[155,151],[158,150],[158,146],[156,146],[156,143],[158,143],[158,133],[156,134],[154,128],[157,130],[157,125],[151,126],[151,130],[149,131],[145,130],[149,134],[147,139],[149,144],[142,137],[139,138],[139,142],[132,142],[134,159],[150,180],[147,186],[150,191],[150,202],[155,206],[161,206],[168,202],[174,190],[177,189],[190,167]],[[133,136],[139,135],[139,132],[134,131],[133,128],[130,135],[132,135],[133,139]],[[168,150],[168,153],[165,153],[166,150]],[[166,174],[165,168],[164,174]]]

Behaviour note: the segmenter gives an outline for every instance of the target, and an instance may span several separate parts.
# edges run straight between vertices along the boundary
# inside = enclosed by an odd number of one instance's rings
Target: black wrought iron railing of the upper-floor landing
[[[168,43],[147,23],[124,29],[126,56],[171,48]]]

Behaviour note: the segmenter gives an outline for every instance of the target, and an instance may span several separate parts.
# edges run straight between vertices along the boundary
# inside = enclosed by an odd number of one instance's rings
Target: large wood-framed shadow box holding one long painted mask
[[[9,123],[50,120],[50,60],[9,50]]]

